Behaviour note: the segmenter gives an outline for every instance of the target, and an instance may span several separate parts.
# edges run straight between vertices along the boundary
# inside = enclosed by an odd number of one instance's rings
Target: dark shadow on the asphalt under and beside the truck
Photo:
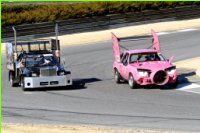
[[[49,88],[35,88],[28,89],[27,91],[63,91],[63,90],[81,90],[87,89],[86,84],[102,81],[98,78],[83,78],[83,79],[73,79],[73,84],[70,86],[63,87],[49,87]]]

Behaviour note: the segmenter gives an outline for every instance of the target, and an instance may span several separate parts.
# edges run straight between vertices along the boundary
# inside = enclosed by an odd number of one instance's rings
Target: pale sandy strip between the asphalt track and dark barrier
[[[61,46],[78,45],[106,41],[111,39],[111,32],[118,37],[149,34],[151,29],[156,32],[175,31],[188,28],[199,28],[200,19],[159,22],[137,26],[128,26],[104,31],[86,32],[59,36]],[[5,44],[2,44],[2,53],[5,53]]]

